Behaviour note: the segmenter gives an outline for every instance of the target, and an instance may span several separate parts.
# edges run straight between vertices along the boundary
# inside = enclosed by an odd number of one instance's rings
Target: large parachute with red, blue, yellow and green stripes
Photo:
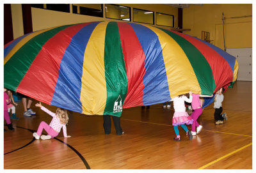
[[[211,95],[237,70],[236,58],[210,43],[126,22],[53,27],[4,45],[4,87],[89,115]]]

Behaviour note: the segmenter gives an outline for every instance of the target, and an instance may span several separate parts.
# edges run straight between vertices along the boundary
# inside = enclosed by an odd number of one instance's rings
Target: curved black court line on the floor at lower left
[[[19,126],[15,126],[15,127],[17,127],[17,128],[23,128],[23,127],[19,127]],[[35,132],[35,130],[31,130],[31,129],[29,129],[29,128],[23,128],[23,129],[26,129],[26,130],[28,130],[29,132],[32,132],[32,133]],[[86,162],[86,160],[85,160],[84,157],[82,156],[82,154],[80,154],[74,147],[70,146],[70,145],[67,144],[66,142],[64,142],[64,141],[62,141],[62,140],[60,140],[60,139],[58,139],[58,138],[56,138],[56,137],[54,137],[54,139],[60,141],[61,143],[65,144],[66,146],[70,147],[70,149],[72,149],[72,150],[79,156],[79,158],[81,158],[81,160],[83,161],[84,166],[86,167],[86,169],[91,169],[90,166],[89,166],[89,164]],[[34,142],[34,141],[35,141],[35,138],[33,138],[33,140],[31,140],[28,144],[26,144],[26,145],[24,145],[24,146],[22,146],[22,147],[19,147],[18,149],[15,149],[15,150],[13,150],[13,151],[10,151],[10,152],[8,152],[8,153],[4,153],[4,155],[5,155],[5,154],[12,153],[12,152],[14,152],[14,151],[17,151],[17,150],[19,150],[19,149],[22,149],[22,148],[28,146],[29,144],[31,144],[31,143]]]

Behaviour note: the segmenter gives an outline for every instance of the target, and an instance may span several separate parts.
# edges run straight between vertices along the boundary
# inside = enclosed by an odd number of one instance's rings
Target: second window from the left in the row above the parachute
[[[73,13],[103,17],[102,4],[73,4]]]

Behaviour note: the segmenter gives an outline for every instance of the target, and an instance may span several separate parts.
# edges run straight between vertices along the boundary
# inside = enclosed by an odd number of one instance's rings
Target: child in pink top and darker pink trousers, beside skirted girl
[[[192,94],[192,96],[193,96],[193,99],[192,99],[191,106],[194,111],[192,112],[191,117],[194,121],[191,126],[191,128],[192,128],[191,133],[193,136],[195,136],[196,134],[200,133],[203,128],[203,126],[199,125],[197,122],[198,117],[203,112],[202,102],[199,97],[212,97],[212,95],[208,96],[208,95],[201,95],[201,94]]]

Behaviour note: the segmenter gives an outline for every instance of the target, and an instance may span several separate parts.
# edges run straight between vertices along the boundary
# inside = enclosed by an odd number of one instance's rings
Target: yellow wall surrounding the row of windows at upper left
[[[167,6],[164,4],[120,4],[120,5],[174,15],[174,25],[175,27],[178,26],[178,22],[177,22],[178,9],[172,6]],[[105,5],[103,6],[105,7]],[[23,23],[22,23],[21,4],[12,4],[12,9],[13,9],[12,17],[14,19],[13,20],[13,27],[14,27],[13,37],[15,39],[19,36],[22,36],[24,33]],[[131,12],[132,12],[132,9],[131,9]],[[125,22],[122,20],[106,19],[105,17],[102,18],[102,17],[87,16],[87,15],[79,15],[74,13],[63,13],[60,11],[44,10],[40,8],[31,8],[31,13],[32,13],[33,31],[38,31],[40,29],[45,29],[49,27],[62,26],[65,24],[77,24],[81,22],[92,22],[92,21],[102,21],[102,20]],[[171,29],[171,27],[165,27],[165,26],[157,26],[157,27],[162,27],[164,29]]]

